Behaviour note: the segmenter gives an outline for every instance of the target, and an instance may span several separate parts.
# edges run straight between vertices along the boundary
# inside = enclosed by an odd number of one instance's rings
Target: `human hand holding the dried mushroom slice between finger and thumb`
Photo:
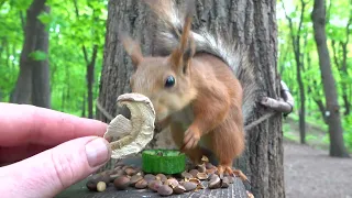
[[[0,102],[1,197],[54,197],[86,178],[110,158],[106,129],[97,120]]]

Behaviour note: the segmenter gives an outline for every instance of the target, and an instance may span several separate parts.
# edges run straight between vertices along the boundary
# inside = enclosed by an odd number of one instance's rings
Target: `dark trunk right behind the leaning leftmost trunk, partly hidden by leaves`
[[[50,8],[44,8],[50,12]],[[36,45],[35,51],[48,54],[48,32],[45,25],[37,21],[36,25]],[[32,59],[32,103],[37,107],[51,108],[51,75],[48,67],[48,57],[43,61]]]

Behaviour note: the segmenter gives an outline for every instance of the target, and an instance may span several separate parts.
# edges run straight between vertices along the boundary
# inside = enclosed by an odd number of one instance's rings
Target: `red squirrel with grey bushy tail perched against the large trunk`
[[[205,146],[218,158],[219,174],[238,173],[232,162],[244,150],[244,121],[254,105],[248,56],[231,36],[191,31],[194,2],[187,2],[185,13],[170,0],[145,2],[162,19],[155,40],[167,55],[143,56],[140,44],[121,34],[134,66],[132,91],[151,99],[156,122],[169,127],[191,162],[200,163]]]

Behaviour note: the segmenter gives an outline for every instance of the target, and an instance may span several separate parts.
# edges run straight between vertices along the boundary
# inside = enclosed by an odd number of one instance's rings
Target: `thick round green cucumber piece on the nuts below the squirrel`
[[[179,174],[186,169],[186,155],[176,150],[145,150],[142,169],[151,174]]]

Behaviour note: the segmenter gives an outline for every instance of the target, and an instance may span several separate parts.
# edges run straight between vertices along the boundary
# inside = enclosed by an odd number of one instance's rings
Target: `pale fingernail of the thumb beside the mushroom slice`
[[[97,138],[86,144],[86,154],[90,167],[105,164],[110,158],[110,150],[105,139]]]

